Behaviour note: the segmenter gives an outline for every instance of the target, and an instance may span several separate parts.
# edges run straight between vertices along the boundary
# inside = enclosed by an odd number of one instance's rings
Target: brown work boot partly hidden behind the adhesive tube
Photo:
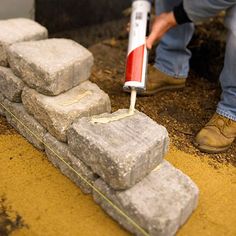
[[[167,75],[153,66],[148,66],[148,80],[146,90],[140,95],[149,96],[163,90],[180,89],[185,87],[185,78],[175,78]]]

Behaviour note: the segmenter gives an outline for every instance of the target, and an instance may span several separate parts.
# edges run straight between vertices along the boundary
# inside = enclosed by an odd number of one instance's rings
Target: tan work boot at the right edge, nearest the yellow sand
[[[226,151],[236,137],[236,121],[217,113],[197,134],[194,146],[207,153]]]

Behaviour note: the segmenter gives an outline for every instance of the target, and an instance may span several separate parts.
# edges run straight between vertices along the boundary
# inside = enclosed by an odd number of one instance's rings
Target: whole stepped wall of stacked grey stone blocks
[[[0,32],[0,115],[127,230],[174,235],[198,188],[164,160],[167,130],[138,111],[112,114],[109,96],[89,81],[93,55],[82,45],[46,39],[24,19],[0,21]]]

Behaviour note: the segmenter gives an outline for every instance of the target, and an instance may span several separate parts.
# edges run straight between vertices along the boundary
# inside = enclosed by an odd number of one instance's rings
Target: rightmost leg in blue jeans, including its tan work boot
[[[194,144],[201,151],[218,153],[227,150],[236,138],[236,5],[228,10],[228,38],[224,68],[220,75],[221,100],[216,114],[197,134]]]

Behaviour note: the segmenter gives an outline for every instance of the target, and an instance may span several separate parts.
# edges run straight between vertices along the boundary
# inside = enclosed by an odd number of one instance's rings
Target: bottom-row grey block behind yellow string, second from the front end
[[[68,163],[89,183],[94,184],[95,180],[98,179],[98,176],[92,172],[91,168],[87,167],[82,161],[72,155],[67,144],[59,142],[49,133],[45,135],[44,143],[49,161],[51,161],[55,167],[60,169],[65,176],[71,179],[85,194],[91,193],[92,188],[61,159]]]

